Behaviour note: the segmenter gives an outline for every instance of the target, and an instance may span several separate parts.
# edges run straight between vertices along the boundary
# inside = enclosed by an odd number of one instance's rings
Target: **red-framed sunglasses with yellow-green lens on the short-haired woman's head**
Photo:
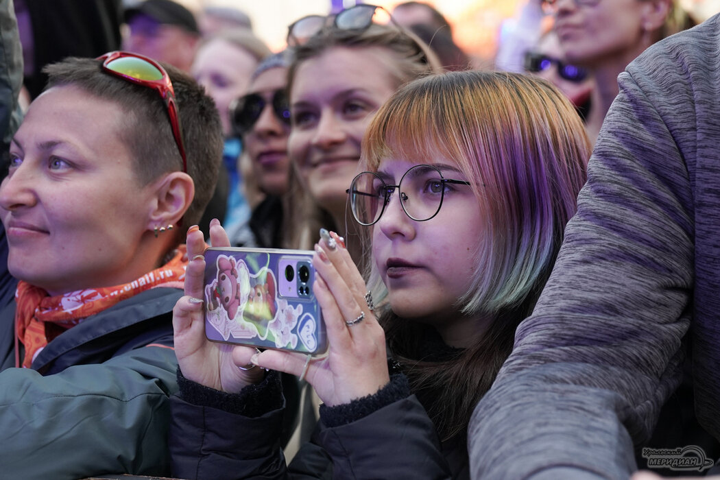
[[[115,71],[109,66],[110,63],[112,63],[114,60],[127,57],[144,60],[153,67],[157,68],[158,71],[162,74],[162,78],[160,80],[143,80],[143,78],[135,78],[125,73]],[[146,86],[150,89],[157,91],[158,94],[160,94],[163,101],[165,101],[165,107],[168,112],[168,117],[170,117],[170,126],[173,129],[175,143],[178,146],[178,150],[180,150],[180,156],[182,157],[182,171],[184,173],[187,173],[187,157],[185,155],[185,143],[182,140],[182,128],[180,126],[180,115],[178,113],[177,101],[175,100],[175,91],[173,89],[173,83],[170,81],[170,76],[165,71],[165,68],[163,68],[152,58],[145,57],[144,55],[139,55],[138,53],[122,52],[120,50],[101,55],[97,58],[97,60],[102,60],[103,71],[110,73],[113,76],[123,78],[137,85]]]

